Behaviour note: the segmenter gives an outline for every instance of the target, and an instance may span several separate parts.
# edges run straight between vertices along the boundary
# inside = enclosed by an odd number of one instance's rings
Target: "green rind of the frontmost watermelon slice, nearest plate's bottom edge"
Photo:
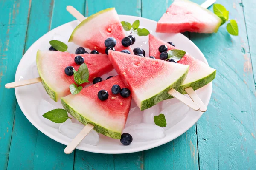
[[[67,102],[65,101],[65,99],[62,97],[61,97],[61,104],[68,113],[70,113],[76,120],[78,120],[82,124],[87,125],[88,123],[90,123],[94,126],[94,130],[96,130],[96,132],[101,133],[105,136],[114,138],[114,139],[121,139],[122,132],[116,132],[116,131],[107,129],[105,127],[102,127],[101,125],[98,125],[98,124],[92,122],[91,120],[87,119],[86,117],[82,116],[77,111],[75,111],[72,108],[72,106],[68,105]]]

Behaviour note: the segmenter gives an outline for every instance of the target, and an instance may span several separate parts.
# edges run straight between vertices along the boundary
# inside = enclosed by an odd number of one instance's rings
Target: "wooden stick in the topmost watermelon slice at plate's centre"
[[[175,89],[171,89],[168,91],[168,94],[175,97],[176,99],[180,100],[180,102],[183,102],[185,105],[189,106],[190,108],[194,109],[195,111],[199,110],[199,105],[193,102],[191,99],[187,98],[180,92],[176,91]]]

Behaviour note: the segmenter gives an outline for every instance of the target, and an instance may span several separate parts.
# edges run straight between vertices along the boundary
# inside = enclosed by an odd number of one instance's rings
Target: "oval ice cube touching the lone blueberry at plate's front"
[[[146,123],[125,127],[123,133],[129,133],[134,142],[152,141],[165,137],[165,131],[162,127]]]

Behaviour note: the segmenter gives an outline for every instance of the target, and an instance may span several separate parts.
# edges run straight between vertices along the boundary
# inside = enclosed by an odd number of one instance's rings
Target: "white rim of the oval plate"
[[[140,19],[143,19],[143,20],[148,20],[149,22],[157,23],[157,21],[150,20],[150,19],[143,18],[143,17],[131,16],[131,15],[119,15],[119,16],[122,16],[122,17],[133,17],[134,19],[140,18]],[[72,22],[77,22],[77,21],[78,21],[78,20],[73,20],[73,21],[70,21],[70,22],[68,22],[68,23],[62,24],[61,26],[65,25],[65,24],[72,23]],[[52,30],[50,30],[50,31],[54,31],[55,29],[57,29],[57,28],[59,28],[59,27],[61,27],[61,26],[58,26],[58,27],[56,27],[56,28],[54,28],[54,29],[52,29]],[[50,31],[48,31],[46,34],[42,35],[38,40],[36,40],[36,41],[27,49],[27,51],[24,53],[24,55],[25,55],[28,51],[31,50],[32,46],[33,46],[36,42],[40,41],[44,36],[46,36],[47,34],[49,34]],[[181,33],[176,33],[176,34],[181,34]],[[186,36],[183,35],[183,34],[181,34],[181,35],[184,36],[184,37],[186,37]],[[194,48],[198,49],[198,52],[201,53],[202,56],[204,56],[204,54],[201,52],[201,50],[200,50],[189,38],[186,37],[186,39],[191,42],[191,44],[194,46]],[[23,56],[24,56],[24,55],[23,55]],[[20,62],[19,62],[19,64],[18,64],[18,66],[17,66],[17,70],[16,70],[16,72],[15,72],[15,82],[19,80],[19,77],[17,76],[17,74],[18,74],[18,72],[19,72],[19,68],[21,67],[20,65],[21,65],[21,63],[22,63],[23,60],[24,60],[24,58],[22,57],[22,58],[20,59]],[[209,65],[208,62],[207,62],[207,59],[206,59],[205,57],[203,58],[202,61],[203,61],[204,63],[206,63],[207,65]],[[209,104],[210,98],[211,98],[211,96],[212,96],[212,82],[210,82],[208,85],[210,86],[210,95],[209,95],[209,97],[207,97],[207,99],[206,99],[206,106]],[[16,99],[17,99],[17,103],[18,103],[18,105],[19,105],[21,111],[23,112],[23,114],[26,116],[26,119],[28,119],[29,122],[30,122],[35,128],[37,128],[39,131],[41,131],[41,133],[44,133],[44,135],[48,136],[49,138],[51,138],[51,139],[53,139],[53,140],[55,140],[55,141],[57,141],[57,142],[59,142],[59,143],[61,143],[61,144],[64,144],[64,145],[69,144],[68,141],[63,141],[63,140],[61,140],[61,139],[58,139],[58,138],[55,137],[52,133],[48,133],[46,130],[44,130],[44,128],[40,128],[40,127],[37,125],[37,123],[36,123],[29,115],[27,115],[26,112],[24,112],[24,111],[25,111],[25,108],[23,108],[23,105],[20,104],[20,103],[22,102],[22,101],[21,101],[22,99],[20,98],[19,95],[17,95],[17,93],[18,93],[18,92],[17,92],[17,88],[15,88],[15,96],[16,96]],[[198,111],[198,112],[200,112],[200,111]],[[181,136],[183,133],[185,133],[187,130],[189,130],[193,125],[195,125],[195,123],[201,118],[202,115],[203,115],[203,113],[200,112],[200,114],[199,114],[199,116],[198,116],[198,119],[196,118],[196,121],[195,121],[195,122],[190,123],[186,128],[184,128],[184,129],[182,130],[182,131],[183,131],[182,133],[179,133],[179,134],[177,134],[176,136],[173,136],[173,139],[172,139],[172,138],[171,138],[171,139],[166,139],[166,137],[165,137],[165,138],[163,138],[163,139],[156,140],[156,141],[152,142],[151,144],[146,144],[146,145],[144,145],[144,146],[142,146],[142,147],[139,147],[139,148],[130,148],[129,150],[113,150],[113,149],[112,149],[112,150],[100,150],[100,149],[94,149],[93,147],[86,147],[86,148],[84,148],[84,147],[81,146],[81,145],[77,146],[76,149],[84,150],[84,151],[92,152],[92,153],[105,153],[105,154],[134,153],[134,152],[140,152],[140,151],[143,151],[143,150],[149,150],[149,149],[158,147],[158,146],[160,146],[160,145],[166,144],[166,143],[168,143],[168,142],[170,142],[170,141],[176,139],[177,137]],[[190,121],[190,122],[191,122],[191,121]]]

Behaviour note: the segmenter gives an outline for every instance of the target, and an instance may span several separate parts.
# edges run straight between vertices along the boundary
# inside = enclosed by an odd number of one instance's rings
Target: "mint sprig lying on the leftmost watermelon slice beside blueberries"
[[[74,83],[70,85],[71,94],[73,95],[78,94],[83,89],[83,87],[80,85],[85,82],[89,82],[88,78],[89,78],[89,70],[87,65],[83,63],[82,65],[80,65],[78,71],[74,70],[74,80],[77,85]]]

